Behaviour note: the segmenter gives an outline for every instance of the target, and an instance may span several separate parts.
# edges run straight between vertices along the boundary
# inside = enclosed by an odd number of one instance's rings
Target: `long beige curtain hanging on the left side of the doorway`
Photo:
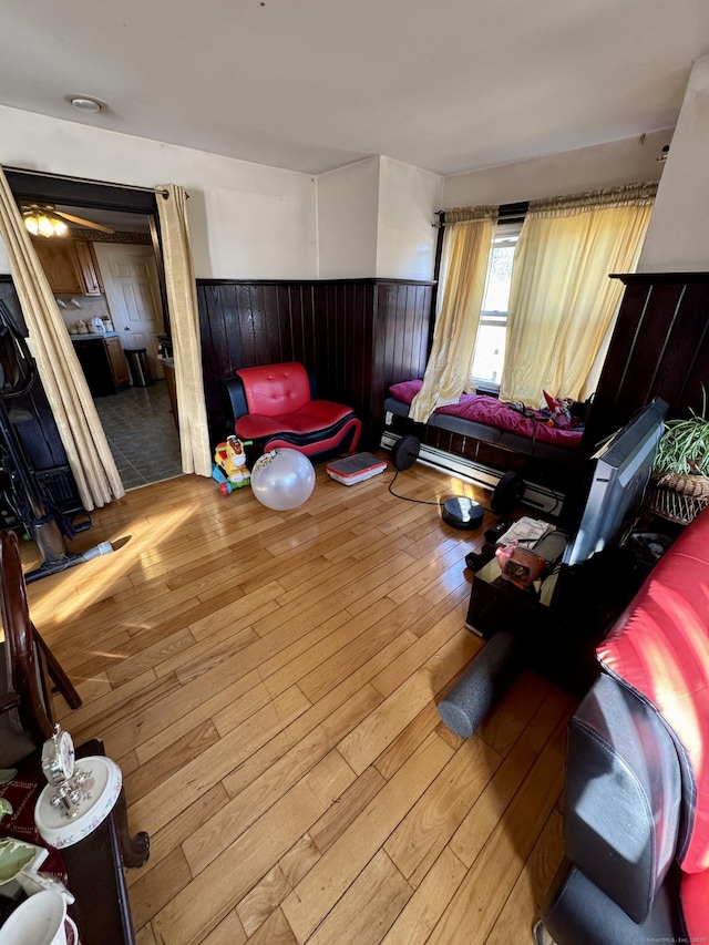
[[[47,393],[86,511],[125,495],[96,408],[54,295],[0,167],[0,236]],[[49,237],[60,238],[60,237]]]

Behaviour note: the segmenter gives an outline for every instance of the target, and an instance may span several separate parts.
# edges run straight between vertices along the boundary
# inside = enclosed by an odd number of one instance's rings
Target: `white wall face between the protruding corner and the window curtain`
[[[382,157],[379,177],[377,275],[431,279],[443,178],[411,164]]]

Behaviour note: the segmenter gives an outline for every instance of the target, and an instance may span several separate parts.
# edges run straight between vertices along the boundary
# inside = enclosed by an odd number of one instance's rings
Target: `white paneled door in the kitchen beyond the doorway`
[[[163,309],[152,248],[116,243],[94,243],[93,247],[121,345],[145,348],[152,376],[162,378],[157,336],[163,330]]]

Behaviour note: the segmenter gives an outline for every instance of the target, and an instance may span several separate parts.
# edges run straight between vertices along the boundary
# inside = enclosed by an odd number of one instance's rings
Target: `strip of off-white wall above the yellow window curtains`
[[[535,157],[443,181],[443,207],[514,204],[583,191],[617,187],[636,181],[658,181],[664,164],[657,158],[672,141],[672,131],[651,132],[594,147]],[[672,145],[674,147],[674,145]]]

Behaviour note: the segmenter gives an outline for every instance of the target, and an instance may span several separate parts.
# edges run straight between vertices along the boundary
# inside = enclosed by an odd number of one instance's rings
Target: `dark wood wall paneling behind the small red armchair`
[[[318,392],[351,404],[363,444],[379,442],[389,384],[423,377],[433,283],[395,279],[197,280],[205,394],[213,442],[227,432],[223,378],[238,368],[300,361]]]

